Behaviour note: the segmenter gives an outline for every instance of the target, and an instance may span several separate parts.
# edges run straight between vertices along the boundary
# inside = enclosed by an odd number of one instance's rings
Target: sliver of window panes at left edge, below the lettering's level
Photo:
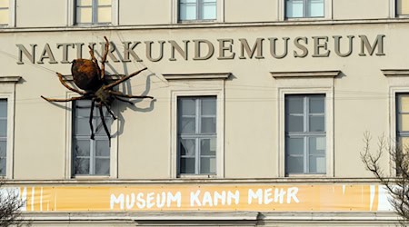
[[[7,100],[0,99],[0,176],[5,176],[7,161]]]

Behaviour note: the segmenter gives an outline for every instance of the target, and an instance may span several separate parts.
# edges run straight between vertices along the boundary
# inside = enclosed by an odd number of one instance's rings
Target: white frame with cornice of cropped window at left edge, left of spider
[[[7,100],[7,150],[5,161],[6,179],[14,178],[14,159],[15,159],[15,84],[21,79],[21,76],[0,76],[0,99]]]

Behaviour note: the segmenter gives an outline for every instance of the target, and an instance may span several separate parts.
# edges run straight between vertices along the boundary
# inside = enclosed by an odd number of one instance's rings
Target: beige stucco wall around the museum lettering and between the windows
[[[56,61],[62,60],[59,43],[102,42],[103,36],[123,52],[124,41],[158,41],[206,39],[215,45],[214,56],[205,61],[194,61],[193,43],[189,45],[188,60],[179,55],[177,61],[169,61],[170,46],[165,44],[164,59],[160,62],[146,60],[144,44],[135,52],[144,59],[141,63],[107,64],[107,71],[131,73],[143,66],[148,72],[138,75],[127,87],[129,93],[147,92],[155,102],[142,101],[135,107],[115,103],[119,115],[117,136],[117,174],[119,179],[169,179],[171,178],[171,93],[188,85],[169,84],[162,74],[225,73],[233,74],[224,82],[224,177],[225,178],[275,178],[279,176],[279,87],[270,72],[340,70],[342,75],[334,78],[334,170],[335,177],[370,177],[364,170],[359,153],[365,131],[374,136],[390,134],[389,89],[392,84],[381,69],[406,68],[402,37],[406,36],[408,24],[384,25],[320,25],[315,26],[258,26],[232,28],[197,28],[170,30],[95,31],[88,32],[30,32],[25,35],[2,33],[0,41],[5,44],[0,54],[2,75],[21,75],[23,81],[15,88],[15,179],[65,179],[67,123],[71,111],[65,104],[49,104],[40,98],[66,97],[67,91],[55,76],[55,71],[69,74],[69,64],[16,64],[18,49],[15,44],[37,44],[35,61],[38,61],[45,43],[50,44]],[[293,55],[296,36],[309,39],[306,44],[310,53],[304,58]],[[334,54],[333,35],[354,35],[354,51],[348,57]],[[383,56],[360,56],[358,35],[367,35],[370,43],[376,35],[385,35]],[[269,37],[290,37],[288,55],[275,59],[269,54]],[[328,36],[329,57],[312,57],[312,36]],[[47,37],[45,40],[44,37]],[[160,37],[160,38],[158,38]],[[233,60],[218,60],[218,38],[234,40]],[[239,38],[250,45],[256,38],[264,38],[264,59],[238,59],[241,46]],[[346,42],[345,39],[342,42]],[[282,44],[282,43],[280,43]],[[342,48],[346,48],[343,44]],[[344,49],[343,49],[344,50]],[[299,50],[296,50],[299,52]],[[155,55],[157,49],[153,52]],[[87,54],[84,50],[84,56]],[[69,59],[75,58],[70,50]],[[108,59],[109,60],[109,59]],[[211,65],[211,66],[210,66]],[[146,84],[147,83],[147,84]],[[204,82],[206,83],[206,82]],[[292,82],[289,81],[289,84]],[[314,79],[311,83],[314,85]],[[405,81],[402,84],[409,84]],[[204,85],[205,86],[205,85]],[[223,136],[223,135],[220,135]],[[389,168],[384,157],[383,164]]]

